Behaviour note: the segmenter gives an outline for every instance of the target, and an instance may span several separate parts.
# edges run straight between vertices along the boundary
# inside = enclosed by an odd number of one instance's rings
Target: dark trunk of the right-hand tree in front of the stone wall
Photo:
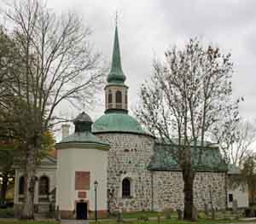
[[[184,181],[184,220],[192,221],[193,219],[193,185],[195,179],[195,172],[190,169],[186,168],[183,169],[183,181]]]

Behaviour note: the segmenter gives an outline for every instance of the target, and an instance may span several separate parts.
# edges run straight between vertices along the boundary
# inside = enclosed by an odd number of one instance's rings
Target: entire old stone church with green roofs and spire
[[[71,135],[69,125],[62,125],[56,158],[46,157],[38,167],[37,212],[53,206],[61,218],[86,219],[95,210],[98,217],[118,210],[183,210],[182,173],[160,142],[129,115],[125,79],[115,27],[112,66],[104,88],[106,110],[94,123],[88,114],[80,113]],[[238,206],[247,206],[247,187],[227,186],[227,178],[237,173],[221,165],[218,146],[206,142],[203,157],[195,176],[197,209],[210,204],[210,195],[216,209],[229,207],[235,198]],[[24,200],[22,170],[16,169],[15,176],[15,209],[19,210]]]

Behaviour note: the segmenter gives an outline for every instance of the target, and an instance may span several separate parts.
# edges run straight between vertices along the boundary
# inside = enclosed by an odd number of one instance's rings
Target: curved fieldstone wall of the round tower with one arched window
[[[111,145],[108,154],[110,210],[151,210],[151,175],[147,166],[153,156],[154,140],[145,135],[97,134]],[[131,180],[131,198],[122,198],[121,183]]]

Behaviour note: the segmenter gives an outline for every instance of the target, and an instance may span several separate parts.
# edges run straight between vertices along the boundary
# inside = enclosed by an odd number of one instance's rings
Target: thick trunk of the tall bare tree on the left
[[[28,158],[26,160],[25,168],[25,186],[24,186],[24,204],[21,211],[20,218],[26,220],[34,219],[34,188],[35,188],[35,174],[36,174],[36,162],[33,152],[28,152]]]

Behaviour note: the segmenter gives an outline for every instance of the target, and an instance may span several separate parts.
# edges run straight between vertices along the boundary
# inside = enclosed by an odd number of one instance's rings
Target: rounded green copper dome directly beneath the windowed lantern
[[[98,118],[93,124],[92,132],[126,132],[146,134],[137,120],[125,112],[111,112],[102,115],[102,117]]]

